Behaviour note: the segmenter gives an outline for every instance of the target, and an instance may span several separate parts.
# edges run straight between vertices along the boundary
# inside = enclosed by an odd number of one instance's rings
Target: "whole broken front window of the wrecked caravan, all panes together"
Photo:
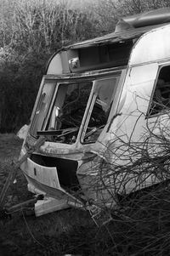
[[[44,134],[48,141],[74,144],[81,128],[81,142],[95,142],[108,122],[120,75],[82,82],[45,81],[31,135]]]

